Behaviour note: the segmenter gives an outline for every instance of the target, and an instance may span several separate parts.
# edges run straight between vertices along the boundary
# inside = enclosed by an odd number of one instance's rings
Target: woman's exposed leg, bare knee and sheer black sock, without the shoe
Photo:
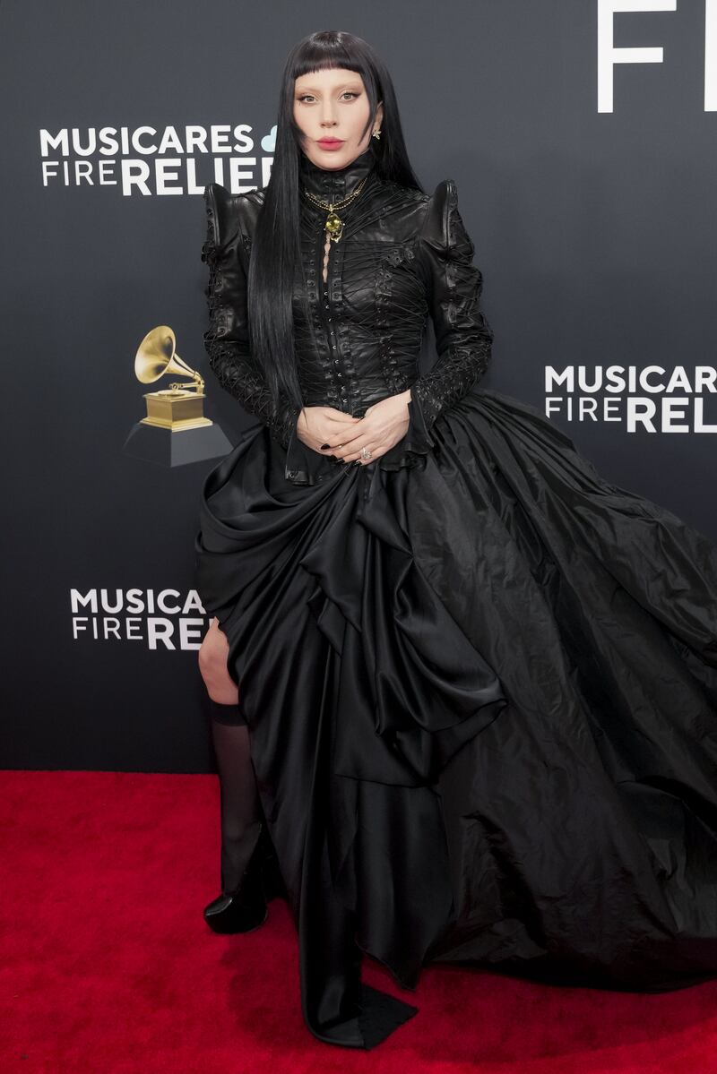
[[[239,688],[227,670],[229,643],[214,619],[199,650],[199,667],[210,695],[212,738],[219,773],[221,890],[236,890],[257,844],[262,818],[248,728]]]

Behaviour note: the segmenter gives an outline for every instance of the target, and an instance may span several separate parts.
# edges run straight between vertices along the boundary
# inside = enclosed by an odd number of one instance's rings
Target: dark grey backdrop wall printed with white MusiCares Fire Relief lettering
[[[266,184],[285,56],[327,28],[387,61],[424,187],[458,185],[484,383],[717,539],[716,0],[4,0],[2,767],[212,768],[193,539],[217,459],[129,453],[172,379],[133,360],[170,325],[230,444],[254,422],[205,361],[201,193]]]

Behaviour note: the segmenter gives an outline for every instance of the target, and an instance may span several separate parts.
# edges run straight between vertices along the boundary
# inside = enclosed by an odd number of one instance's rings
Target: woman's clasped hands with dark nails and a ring
[[[410,400],[410,389],[389,395],[370,406],[362,418],[352,418],[333,407],[304,407],[297,422],[297,434],[320,454],[365,465],[403,439],[408,430]],[[361,458],[361,448],[369,449],[371,459]]]

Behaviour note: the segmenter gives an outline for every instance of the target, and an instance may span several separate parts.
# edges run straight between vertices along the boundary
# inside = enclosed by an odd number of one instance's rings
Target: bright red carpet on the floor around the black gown
[[[372,1051],[304,1028],[286,904],[218,937],[213,775],[0,772],[0,1071],[717,1074],[717,982],[656,996],[430,967]]]

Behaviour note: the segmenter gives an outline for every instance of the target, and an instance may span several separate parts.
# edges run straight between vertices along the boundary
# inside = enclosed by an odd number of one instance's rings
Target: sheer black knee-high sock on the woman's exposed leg
[[[249,732],[239,705],[211,701],[212,737],[219,772],[221,890],[236,890],[260,832],[262,819]]]

